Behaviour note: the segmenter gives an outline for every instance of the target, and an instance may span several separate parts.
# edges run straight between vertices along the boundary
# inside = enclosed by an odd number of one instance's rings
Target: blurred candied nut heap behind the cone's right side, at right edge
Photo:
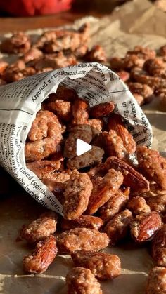
[[[166,45],[158,53],[136,46],[125,58],[111,58],[110,68],[127,83],[139,105],[155,97],[166,107]]]

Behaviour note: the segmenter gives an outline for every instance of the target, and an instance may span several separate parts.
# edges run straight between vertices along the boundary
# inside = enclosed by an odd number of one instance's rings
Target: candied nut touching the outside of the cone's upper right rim
[[[153,89],[143,83],[129,82],[127,84],[132,94],[139,94],[143,96],[144,102],[150,102],[153,97]]]

